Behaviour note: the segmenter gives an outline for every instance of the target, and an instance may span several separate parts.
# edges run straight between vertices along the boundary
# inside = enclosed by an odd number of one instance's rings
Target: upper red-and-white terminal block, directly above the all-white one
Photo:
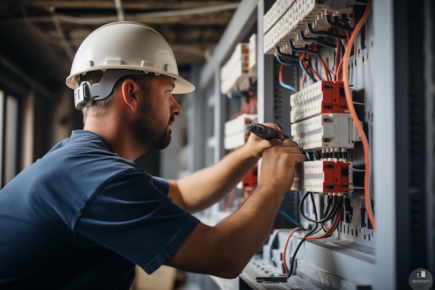
[[[290,96],[290,122],[325,113],[349,113],[343,81],[318,81]]]

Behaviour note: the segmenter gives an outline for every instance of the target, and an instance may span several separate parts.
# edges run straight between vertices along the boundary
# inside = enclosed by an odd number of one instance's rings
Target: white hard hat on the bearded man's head
[[[76,90],[80,86],[77,76],[112,69],[126,70],[123,75],[136,71],[134,74],[154,72],[171,76],[175,83],[174,94],[195,90],[192,83],[179,76],[177,61],[165,38],[138,22],[112,22],[90,33],[76,51],[66,84]],[[99,99],[105,97],[108,96],[100,96]]]

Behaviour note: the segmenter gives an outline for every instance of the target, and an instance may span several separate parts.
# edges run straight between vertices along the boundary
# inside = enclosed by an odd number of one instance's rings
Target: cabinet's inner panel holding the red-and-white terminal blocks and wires
[[[288,193],[299,198],[298,210],[280,210],[291,212],[295,221],[290,227],[276,224],[247,267],[245,274],[254,275],[258,283],[281,283],[283,289],[370,287],[369,275],[337,271],[324,258],[334,253],[331,249],[340,249],[341,259],[352,261],[355,268],[374,260],[375,200],[370,194],[367,149],[372,112],[366,106],[371,84],[365,78],[371,61],[370,5],[352,0],[277,0],[264,15],[264,53],[281,65],[279,84],[293,90],[287,92],[290,102],[283,110],[289,115],[290,138],[307,161],[295,167]],[[282,67],[297,67],[297,80],[286,79]]]

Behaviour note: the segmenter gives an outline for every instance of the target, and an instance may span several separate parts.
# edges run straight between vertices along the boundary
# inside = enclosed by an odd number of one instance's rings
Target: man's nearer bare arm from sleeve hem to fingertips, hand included
[[[258,185],[242,207],[215,227],[199,223],[166,264],[236,277],[264,243],[281,200],[293,184],[295,164],[305,160],[291,140],[265,150]]]

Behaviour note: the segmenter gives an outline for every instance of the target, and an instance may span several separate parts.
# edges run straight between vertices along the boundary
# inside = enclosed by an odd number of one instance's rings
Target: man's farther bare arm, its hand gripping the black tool
[[[284,138],[276,124],[265,124],[277,129],[279,137]],[[264,150],[280,143],[279,139],[263,140],[251,134],[243,147],[227,154],[215,165],[177,181],[170,181],[168,196],[190,213],[202,211],[222,200],[235,188],[254,167]]]

